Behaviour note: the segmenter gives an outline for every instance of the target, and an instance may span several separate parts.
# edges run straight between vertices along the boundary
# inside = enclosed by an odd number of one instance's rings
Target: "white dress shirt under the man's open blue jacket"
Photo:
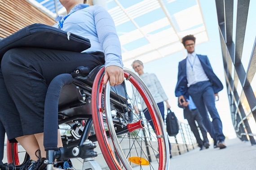
[[[188,54],[186,67],[188,87],[192,84],[209,80],[195,52]]]

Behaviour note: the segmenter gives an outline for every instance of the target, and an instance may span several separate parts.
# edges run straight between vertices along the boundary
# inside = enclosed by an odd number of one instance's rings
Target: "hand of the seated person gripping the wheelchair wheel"
[[[110,81],[110,86],[119,85],[124,81],[124,70],[116,65],[110,65],[105,68],[103,83]]]

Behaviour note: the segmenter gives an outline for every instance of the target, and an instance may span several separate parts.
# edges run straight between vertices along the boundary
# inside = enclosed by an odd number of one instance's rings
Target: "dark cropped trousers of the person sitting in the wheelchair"
[[[8,139],[44,131],[44,99],[54,77],[71,73],[81,65],[92,70],[104,63],[103,52],[43,48],[14,48],[6,52],[0,69],[0,122]]]

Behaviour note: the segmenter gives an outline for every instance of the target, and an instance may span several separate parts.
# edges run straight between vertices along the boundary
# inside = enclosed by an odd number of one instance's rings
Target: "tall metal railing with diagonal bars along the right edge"
[[[253,145],[256,144],[256,134],[251,130],[256,126],[256,89],[251,83],[256,71],[256,37],[251,55],[243,55],[244,42],[247,40],[245,34],[249,6],[250,0],[216,0],[226,87],[234,130],[238,138],[243,141],[250,140]],[[253,15],[250,17],[250,20],[254,20]],[[243,65],[242,56],[249,58],[248,65]],[[249,123],[250,118],[254,118],[255,122]]]

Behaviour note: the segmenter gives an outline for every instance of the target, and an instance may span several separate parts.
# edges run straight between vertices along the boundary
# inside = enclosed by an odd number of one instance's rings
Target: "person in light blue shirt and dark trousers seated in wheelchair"
[[[22,167],[24,170],[37,169],[42,162],[38,157],[46,157],[43,145],[44,100],[54,77],[70,74],[80,65],[93,70],[97,65],[105,64],[104,83],[109,79],[114,86],[124,80],[121,47],[109,13],[100,6],[85,4],[84,0],[60,2],[68,15],[57,17],[54,27],[89,39],[91,48],[81,53],[14,48],[6,52],[1,61],[0,122],[9,141],[17,140],[29,154],[31,161]],[[58,147],[62,147],[60,134]],[[0,167],[1,170],[8,168],[13,166]]]

